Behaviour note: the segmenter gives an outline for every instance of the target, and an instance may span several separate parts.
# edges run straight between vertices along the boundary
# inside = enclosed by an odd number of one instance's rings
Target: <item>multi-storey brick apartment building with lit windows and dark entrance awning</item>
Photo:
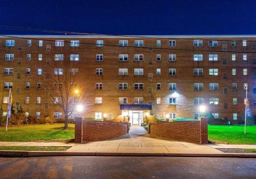
[[[216,118],[236,122],[245,111],[245,83],[248,115],[256,115],[255,52],[256,36],[1,36],[1,103],[6,110],[12,88],[13,104],[29,115],[63,119],[49,98],[60,84],[49,75],[61,76],[62,62],[71,60],[84,117],[122,114],[137,124],[145,112],[197,118],[205,105]]]

